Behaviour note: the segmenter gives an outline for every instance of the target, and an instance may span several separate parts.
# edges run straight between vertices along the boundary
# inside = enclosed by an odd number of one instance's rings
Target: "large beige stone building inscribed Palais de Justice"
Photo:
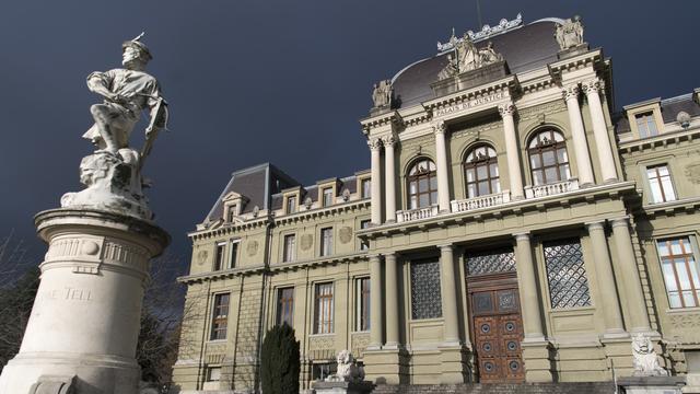
[[[637,333],[700,373],[700,91],[614,113],[582,31],[518,15],[378,83],[369,171],[235,172],[189,234],[176,385],[256,390],[281,323],[302,389],[341,349],[378,383],[611,381]]]

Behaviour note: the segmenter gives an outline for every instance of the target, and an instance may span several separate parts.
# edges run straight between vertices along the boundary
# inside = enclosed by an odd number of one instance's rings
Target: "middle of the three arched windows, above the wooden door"
[[[472,149],[464,161],[469,198],[501,192],[495,150],[489,146]]]

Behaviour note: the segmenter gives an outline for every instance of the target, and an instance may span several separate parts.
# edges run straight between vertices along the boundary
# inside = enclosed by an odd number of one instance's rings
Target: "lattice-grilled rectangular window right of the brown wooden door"
[[[579,239],[544,244],[552,309],[591,305],[586,268]]]

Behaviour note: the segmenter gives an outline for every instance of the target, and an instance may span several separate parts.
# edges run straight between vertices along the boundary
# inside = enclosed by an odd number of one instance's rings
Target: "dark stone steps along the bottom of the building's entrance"
[[[378,384],[372,394],[612,394],[611,382],[586,383],[470,383],[470,384]]]

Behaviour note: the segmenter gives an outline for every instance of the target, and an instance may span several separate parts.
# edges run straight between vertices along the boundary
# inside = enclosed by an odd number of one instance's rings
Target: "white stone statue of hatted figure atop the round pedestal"
[[[124,69],[88,76],[88,88],[104,97],[90,112],[95,124],[83,135],[98,149],[80,163],[80,182],[86,188],[68,193],[62,207],[86,207],[152,219],[142,188],[150,182],[141,176],[143,161],[161,129],[166,128],[167,107],[155,78],[144,69],[152,59],[138,37],[125,42]],[[150,111],[145,143],[139,152],[129,147],[129,137],[143,109]]]

